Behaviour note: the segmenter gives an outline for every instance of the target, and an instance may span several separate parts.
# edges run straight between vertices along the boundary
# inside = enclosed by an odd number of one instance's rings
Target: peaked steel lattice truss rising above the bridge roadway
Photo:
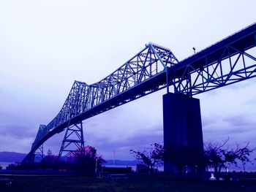
[[[64,102],[56,118],[48,126],[44,128],[40,126],[32,149],[53,128],[60,126],[62,123],[69,121],[71,118],[83,112],[99,106],[113,97],[121,95],[121,93],[132,89],[136,85],[142,84],[144,81],[159,74],[159,72],[164,72],[167,67],[175,64],[178,64],[178,61],[169,49],[149,43],[140,53],[108,77],[105,77],[105,79],[92,85],[75,81],[67,100]],[[115,105],[110,105],[108,108],[102,110],[102,112],[125,102],[124,100]]]

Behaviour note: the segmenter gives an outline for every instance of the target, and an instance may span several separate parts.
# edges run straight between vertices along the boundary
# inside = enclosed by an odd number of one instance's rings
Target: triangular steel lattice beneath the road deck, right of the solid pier
[[[236,51],[236,55],[233,55]],[[251,52],[251,54],[249,54]],[[170,84],[174,86],[175,93],[193,96],[225,85],[230,85],[241,80],[256,76],[256,50],[237,50],[236,47],[223,48],[218,60],[209,63],[206,55],[202,60],[203,67],[195,69],[193,63],[176,69]],[[182,75],[180,72],[182,71]],[[176,74],[178,77],[176,78]]]

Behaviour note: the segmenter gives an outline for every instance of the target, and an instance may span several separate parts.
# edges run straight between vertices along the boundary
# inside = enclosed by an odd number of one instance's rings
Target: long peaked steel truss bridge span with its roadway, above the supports
[[[82,120],[162,88],[169,92],[170,87],[174,93],[195,96],[255,76],[256,23],[183,61],[178,61],[170,49],[148,43],[99,82],[88,85],[75,81],[59,114],[47,126],[39,126],[31,151],[23,162],[33,161],[36,150],[65,128],[75,126],[77,129],[69,131],[78,134],[83,130],[77,126]],[[79,142],[75,144],[83,146]],[[64,147],[63,143],[62,149]]]

